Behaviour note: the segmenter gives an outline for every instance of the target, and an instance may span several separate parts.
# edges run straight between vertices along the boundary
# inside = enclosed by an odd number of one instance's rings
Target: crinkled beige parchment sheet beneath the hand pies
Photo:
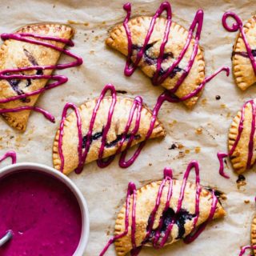
[[[161,1],[141,0],[133,2],[133,15],[154,14]],[[71,23],[77,30],[74,37],[74,53],[80,54],[84,64],[78,68],[58,71],[66,74],[69,82],[47,91],[38,101],[38,106],[50,110],[57,122],[48,122],[41,114],[30,116],[25,134],[21,134],[0,119],[0,154],[6,150],[18,152],[18,162],[40,162],[52,166],[52,144],[58,128],[62,108],[66,102],[80,105],[89,98],[97,97],[102,87],[112,82],[117,90],[126,90],[127,95],[142,95],[152,108],[162,89],[151,85],[141,71],[130,78],[123,75],[125,58],[105,46],[107,31],[126,14],[124,1],[1,1],[0,31],[13,32],[20,26],[37,22]],[[186,1],[171,2],[173,19],[188,28],[198,8],[205,11],[201,46],[205,50],[206,74],[219,66],[230,66],[230,55],[237,33],[228,33],[222,28],[222,14],[234,10],[243,21],[255,14],[253,1]],[[66,59],[62,57],[61,62]],[[221,99],[216,100],[215,96]],[[254,98],[256,88],[242,92],[234,85],[232,75],[218,75],[209,82],[194,110],[186,110],[182,104],[165,103],[159,118],[166,127],[166,138],[148,142],[137,162],[124,170],[117,159],[106,169],[99,169],[95,162],[87,165],[82,174],[70,178],[84,194],[90,210],[90,240],[85,255],[96,256],[113,234],[114,221],[126,196],[128,182],[138,187],[162,178],[165,166],[174,169],[176,178],[182,178],[186,165],[196,159],[201,167],[202,184],[217,186],[225,191],[227,211],[225,219],[212,222],[205,232],[190,245],[178,242],[162,250],[144,249],[143,255],[238,255],[239,247],[250,242],[250,222],[255,211],[254,195],[256,178],[254,170],[246,173],[247,185],[238,190],[237,175],[229,166],[231,178],[218,175],[218,150],[226,150],[230,122],[247,98]],[[202,129],[202,134],[196,130]],[[183,148],[168,150],[173,143]],[[200,150],[200,152],[198,152]],[[9,164],[9,161],[1,166]],[[190,178],[194,180],[193,175]],[[249,203],[245,203],[249,200]],[[115,255],[114,246],[106,255]]]

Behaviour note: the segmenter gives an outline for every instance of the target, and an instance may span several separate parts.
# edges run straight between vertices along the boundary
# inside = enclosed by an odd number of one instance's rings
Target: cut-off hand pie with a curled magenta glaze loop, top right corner
[[[233,26],[228,26],[226,19],[234,18]],[[232,64],[234,80],[238,87],[246,90],[256,82],[256,16],[242,25],[237,14],[227,12],[222,18],[223,26],[230,32],[240,30],[233,47]]]

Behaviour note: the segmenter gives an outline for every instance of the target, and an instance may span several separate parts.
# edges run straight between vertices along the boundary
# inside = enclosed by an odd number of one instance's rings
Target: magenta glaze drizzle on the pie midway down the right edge
[[[239,126],[238,126],[238,136],[235,139],[234,145],[232,146],[230,152],[228,154],[218,152],[218,154],[217,154],[218,155],[218,161],[220,163],[219,174],[221,174],[225,178],[230,178],[230,177],[224,173],[223,159],[228,157],[228,156],[229,157],[232,156],[232,154],[234,153],[234,150],[238,146],[238,142],[240,141],[240,138],[241,138],[241,135],[242,135],[243,122],[244,122],[244,119],[245,119],[245,110],[246,110],[247,104],[250,104],[251,109],[252,109],[252,122],[251,122],[251,129],[250,129],[250,140],[249,140],[249,143],[248,143],[248,158],[247,158],[247,162],[246,162],[246,169],[250,169],[254,165],[254,162],[252,162],[252,158],[253,158],[253,155],[254,155],[254,134],[255,134],[256,105],[254,103],[254,100],[252,99],[252,100],[246,102],[242,106],[241,118],[240,118],[240,122],[239,122]]]

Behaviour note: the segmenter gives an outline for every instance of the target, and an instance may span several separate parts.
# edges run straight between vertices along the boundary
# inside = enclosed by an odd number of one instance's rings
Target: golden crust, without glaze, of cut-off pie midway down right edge
[[[246,171],[246,164],[247,164],[247,159],[249,154],[248,144],[250,141],[251,122],[252,122],[252,108],[250,103],[246,104],[244,113],[245,113],[245,116],[244,116],[241,138],[234,150],[234,153],[230,155],[230,159],[234,167],[234,170],[238,174],[242,174],[244,171]],[[228,141],[229,150],[231,150],[236,138],[238,138],[238,126],[241,120],[241,114],[242,114],[241,110],[238,111],[238,114],[234,117],[233,122],[230,126],[229,141]],[[256,138],[254,136],[254,152],[255,150],[256,150]],[[253,163],[255,162],[255,160],[256,160],[256,154],[253,154],[253,158],[251,162]]]

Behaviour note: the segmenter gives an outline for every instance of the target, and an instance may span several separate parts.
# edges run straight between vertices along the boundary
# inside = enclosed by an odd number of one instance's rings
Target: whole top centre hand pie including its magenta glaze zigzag
[[[130,76],[138,66],[154,85],[161,84],[178,98],[196,90],[205,79],[203,52],[198,45],[202,10],[198,10],[190,30],[186,30],[171,21],[169,2],[162,3],[154,17],[130,19],[130,4],[124,9],[127,11],[126,20],[110,31],[106,45],[127,56],[125,74]],[[160,16],[163,10],[167,12],[166,18]],[[196,38],[193,38],[196,25]],[[186,106],[194,106],[199,94],[187,99]]]

